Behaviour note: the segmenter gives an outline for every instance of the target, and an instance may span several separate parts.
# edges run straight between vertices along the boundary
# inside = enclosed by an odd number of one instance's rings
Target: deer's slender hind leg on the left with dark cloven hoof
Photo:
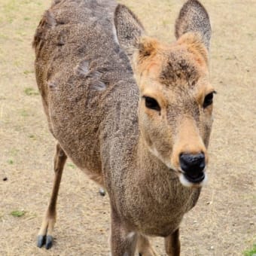
[[[54,181],[53,190],[50,196],[50,203],[47,212],[41,224],[41,229],[38,233],[38,247],[45,244],[45,248],[49,249],[53,245],[53,227],[56,222],[56,201],[59,192],[59,184],[62,177],[62,171],[66,163],[66,153],[62,150],[59,143],[56,145],[56,153],[54,157]]]

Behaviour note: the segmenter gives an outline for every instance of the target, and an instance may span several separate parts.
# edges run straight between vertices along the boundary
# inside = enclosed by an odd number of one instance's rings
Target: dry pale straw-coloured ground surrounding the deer
[[[122,2],[150,35],[174,40],[184,1]],[[218,94],[209,184],[181,224],[181,255],[242,255],[256,243],[256,1],[202,2],[212,20],[211,81]],[[108,255],[108,197],[71,162],[60,187],[53,248],[35,245],[53,182],[55,142],[35,84],[31,42],[49,6],[50,0],[0,1],[0,255]],[[153,240],[165,255],[162,239]]]

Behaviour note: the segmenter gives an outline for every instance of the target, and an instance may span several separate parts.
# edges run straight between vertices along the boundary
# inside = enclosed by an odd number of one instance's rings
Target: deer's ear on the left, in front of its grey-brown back
[[[134,50],[139,48],[140,38],[145,33],[142,23],[129,8],[117,5],[114,12],[114,26],[120,46],[131,59]]]

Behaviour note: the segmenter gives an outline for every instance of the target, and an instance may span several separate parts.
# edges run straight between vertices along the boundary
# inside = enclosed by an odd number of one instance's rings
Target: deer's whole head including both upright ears
[[[114,23],[118,41],[130,57],[139,86],[139,126],[145,145],[181,184],[206,181],[207,146],[212,128],[209,83],[209,16],[197,0],[181,8],[177,41],[163,44],[145,35],[134,14],[118,5]]]

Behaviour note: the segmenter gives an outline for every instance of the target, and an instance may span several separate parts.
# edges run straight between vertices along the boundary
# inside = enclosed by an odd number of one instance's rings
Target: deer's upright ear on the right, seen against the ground
[[[188,0],[181,8],[175,22],[175,37],[177,39],[187,32],[199,35],[209,50],[212,33],[209,15],[197,0]]]

